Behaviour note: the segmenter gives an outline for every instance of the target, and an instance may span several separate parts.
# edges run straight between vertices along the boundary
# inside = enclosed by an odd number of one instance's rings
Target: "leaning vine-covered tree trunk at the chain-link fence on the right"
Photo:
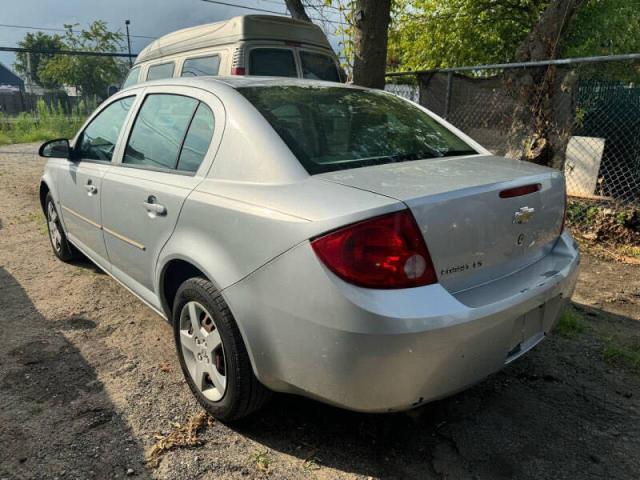
[[[553,0],[516,51],[516,61],[557,58],[558,44],[584,0]],[[573,123],[575,74],[555,66],[512,70],[507,87],[516,99],[510,150],[521,158],[562,168]],[[524,136],[524,140],[523,140]]]

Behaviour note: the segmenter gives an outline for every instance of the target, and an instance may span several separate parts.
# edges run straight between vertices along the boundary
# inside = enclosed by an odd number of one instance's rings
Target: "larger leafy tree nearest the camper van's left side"
[[[87,30],[73,31],[73,25],[65,25],[62,37],[65,50],[90,52],[117,52],[121,49],[123,35],[111,32],[103,21],[93,22]],[[87,55],[56,55],[40,70],[44,81],[77,87],[82,95],[106,96],[109,85],[118,83],[126,66],[114,57]]]

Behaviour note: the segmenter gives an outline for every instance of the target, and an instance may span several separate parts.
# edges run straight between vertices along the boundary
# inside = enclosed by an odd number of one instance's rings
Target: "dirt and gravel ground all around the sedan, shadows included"
[[[575,331],[466,392],[392,415],[279,395],[145,462],[200,409],[169,325],[53,256],[35,149],[0,149],[0,479],[640,478],[640,374],[610,349],[640,345],[640,267],[594,257]]]

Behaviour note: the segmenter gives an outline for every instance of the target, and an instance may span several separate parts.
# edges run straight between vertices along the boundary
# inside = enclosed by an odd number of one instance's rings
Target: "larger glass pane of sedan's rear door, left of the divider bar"
[[[198,100],[181,95],[147,96],[129,136],[123,163],[175,169]]]

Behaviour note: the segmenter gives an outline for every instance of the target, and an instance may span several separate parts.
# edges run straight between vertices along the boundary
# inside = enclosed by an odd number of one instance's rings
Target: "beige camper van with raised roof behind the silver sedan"
[[[122,87],[199,75],[343,80],[331,45],[317,25],[287,17],[243,15],[153,41],[140,52]]]

